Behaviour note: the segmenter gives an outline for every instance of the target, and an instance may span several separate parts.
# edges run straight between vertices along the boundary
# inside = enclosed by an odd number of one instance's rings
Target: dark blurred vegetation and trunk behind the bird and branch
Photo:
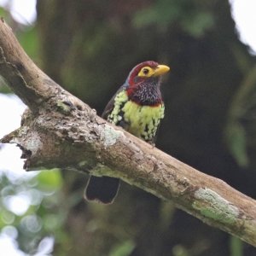
[[[171,66],[157,147],[255,198],[255,57],[237,38],[227,1],[38,0],[35,26],[15,24],[15,30],[44,72],[97,113],[138,62]],[[84,202],[86,180],[56,170],[22,183],[2,175],[2,232],[15,227],[20,248],[30,254],[47,237],[55,239],[53,255],[256,253],[125,183],[112,206]],[[26,212],[6,207],[7,196],[30,189],[41,197]]]

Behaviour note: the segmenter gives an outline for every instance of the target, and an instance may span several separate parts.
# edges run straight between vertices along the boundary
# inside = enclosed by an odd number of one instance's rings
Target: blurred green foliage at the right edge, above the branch
[[[246,73],[230,105],[225,138],[241,167],[255,165],[256,153],[256,67]]]

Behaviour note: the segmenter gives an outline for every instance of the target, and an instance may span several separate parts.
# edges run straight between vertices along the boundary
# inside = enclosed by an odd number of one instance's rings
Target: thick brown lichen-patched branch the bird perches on
[[[120,177],[256,246],[256,201],[109,125],[29,59],[0,21],[0,73],[29,110],[2,143],[17,143],[26,170],[52,167]]]

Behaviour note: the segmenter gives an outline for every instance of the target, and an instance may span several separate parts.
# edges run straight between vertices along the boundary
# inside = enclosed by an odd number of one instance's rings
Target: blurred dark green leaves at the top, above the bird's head
[[[172,24],[180,26],[189,35],[200,38],[214,26],[214,16],[207,9],[209,6],[211,3],[200,1],[195,5],[187,0],[159,0],[148,8],[137,11],[133,24],[138,28],[154,25],[160,30]]]

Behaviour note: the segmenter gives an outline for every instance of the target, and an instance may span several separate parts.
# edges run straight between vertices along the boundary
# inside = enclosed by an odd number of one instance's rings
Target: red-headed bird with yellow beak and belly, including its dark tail
[[[144,61],[131,69],[125,83],[108,102],[102,118],[125,131],[154,144],[165,105],[160,92],[161,76],[170,67]],[[119,190],[119,178],[90,176],[84,198],[110,204]]]

